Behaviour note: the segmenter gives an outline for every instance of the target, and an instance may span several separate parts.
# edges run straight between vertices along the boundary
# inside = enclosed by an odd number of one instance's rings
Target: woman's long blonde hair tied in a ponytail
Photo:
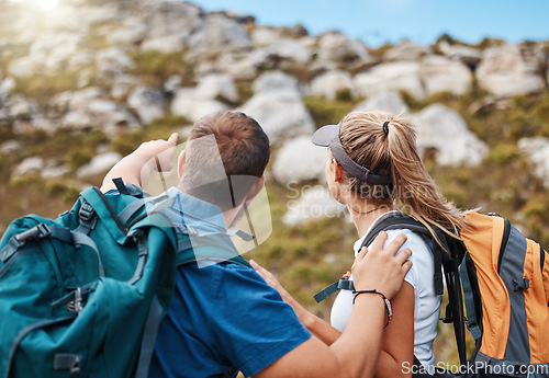
[[[392,185],[379,187],[347,175],[355,193],[368,193],[366,199],[379,204],[394,202],[427,227],[437,242],[433,227],[460,238],[459,231],[467,227],[464,211],[442,197],[425,170],[410,122],[382,112],[352,112],[341,121],[340,140],[357,163],[393,177]]]

